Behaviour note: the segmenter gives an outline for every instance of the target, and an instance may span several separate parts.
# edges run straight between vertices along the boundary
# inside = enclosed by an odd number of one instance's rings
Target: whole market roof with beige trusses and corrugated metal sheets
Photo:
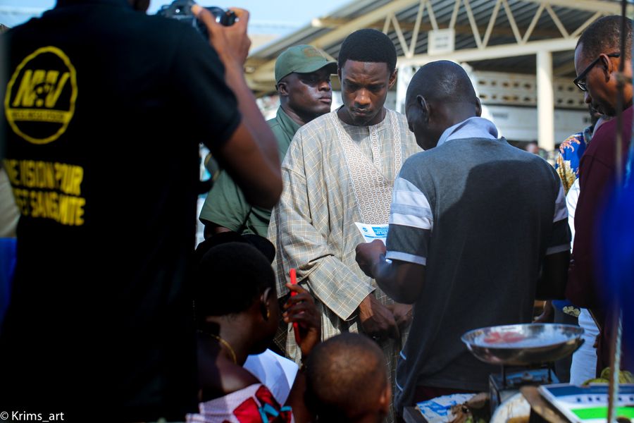
[[[363,27],[392,39],[400,65],[449,59],[476,71],[534,74],[535,53],[544,49],[553,52],[554,76],[568,76],[580,33],[600,16],[620,11],[615,0],[353,0],[253,51],[247,80],[258,94],[273,92],[275,58],[287,47],[312,44],[337,59],[343,39]],[[452,32],[454,46],[436,53],[430,37],[446,36],[442,30]]]

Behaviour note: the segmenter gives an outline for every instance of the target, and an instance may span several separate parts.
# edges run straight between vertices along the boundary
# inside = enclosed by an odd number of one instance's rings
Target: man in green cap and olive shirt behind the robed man
[[[297,130],[330,111],[330,75],[333,73],[337,73],[337,63],[328,61],[309,45],[290,47],[275,61],[275,88],[280,96],[280,108],[277,116],[267,123],[278,140],[280,161]],[[271,210],[252,207],[224,171],[209,191],[200,213],[205,238],[226,231],[266,237],[269,219]]]

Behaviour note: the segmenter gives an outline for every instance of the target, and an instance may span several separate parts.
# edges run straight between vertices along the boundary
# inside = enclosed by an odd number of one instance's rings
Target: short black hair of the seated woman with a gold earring
[[[275,287],[268,259],[249,243],[223,243],[202,255],[196,271],[194,310],[207,316],[244,312],[266,288]]]

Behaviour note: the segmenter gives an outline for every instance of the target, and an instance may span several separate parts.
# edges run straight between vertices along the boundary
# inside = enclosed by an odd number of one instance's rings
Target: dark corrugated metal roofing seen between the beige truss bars
[[[495,25],[492,27],[490,39],[487,42],[487,47],[500,46],[504,44],[515,44],[516,36],[514,35],[513,25],[509,16],[507,16],[504,0],[497,6],[497,16],[495,18]],[[542,8],[540,17],[537,19],[537,23],[534,25],[534,30],[530,35],[528,41],[538,41],[547,39],[562,38],[564,35],[549,13],[549,8],[554,12],[561,26],[567,32],[568,37],[577,30],[581,25],[587,23],[595,16],[597,11],[603,11],[604,14],[618,13],[619,2],[616,0],[506,0],[509,9],[512,12],[513,19],[516,23],[520,34],[523,36],[531,26],[535,13]],[[262,78],[264,72],[261,67],[271,70],[272,63],[277,56],[295,44],[314,44],[315,41],[319,41],[321,37],[330,34],[334,30],[340,30],[341,27],[354,23],[354,20],[368,16],[373,11],[379,11],[380,8],[390,8],[393,4],[397,4],[397,1],[390,0],[353,0],[349,4],[342,6],[336,11],[330,13],[329,16],[323,16],[318,18],[317,21],[313,21],[318,25],[307,25],[299,30],[293,32],[282,39],[278,39],[272,44],[253,51],[247,60],[247,78],[249,74],[258,74],[259,80],[254,82],[254,85],[258,86],[258,90],[266,91],[266,78]],[[406,4],[405,7],[394,11],[399,26],[402,29],[406,47],[409,49],[411,45],[411,39],[414,35],[414,26],[416,23],[416,16],[418,15],[418,8],[421,4],[425,4],[423,18],[421,20],[421,27],[416,39],[416,47],[414,54],[427,54],[428,51],[428,31],[433,29],[433,19],[430,18],[429,8],[426,6],[426,1],[403,1]],[[455,29],[455,41],[454,48],[456,51],[462,49],[476,49],[478,43],[475,41],[473,30],[471,27],[470,18],[467,12],[467,4],[473,12],[473,18],[475,25],[478,27],[480,38],[482,39],[487,30],[487,26],[490,23],[492,13],[496,8],[498,1],[494,0],[460,0],[460,6],[456,15]],[[454,13],[455,0],[430,0],[430,4],[433,9],[433,16],[435,22],[439,28],[449,27],[452,15]],[[593,10],[594,9],[594,10]],[[606,12],[607,11],[607,12]],[[383,30],[385,24],[385,15],[377,18],[373,23],[367,25],[361,25],[360,27],[375,27],[378,30]],[[356,27],[354,29],[357,29]],[[352,32],[351,30],[350,32]],[[349,32],[348,32],[349,33]],[[339,54],[341,43],[347,34],[342,34],[341,37],[337,37],[335,40],[330,40],[327,43],[319,46],[327,54],[337,59]],[[397,49],[399,57],[405,56],[406,52],[402,48],[402,44],[399,41],[399,35],[394,29],[394,25],[390,23],[387,35],[394,42],[394,46]],[[483,54],[485,57],[485,54]],[[566,65],[573,61],[573,51],[560,51],[553,54],[553,68],[561,69],[559,75],[571,75],[573,69]],[[535,55],[530,54],[528,56],[516,56],[512,58],[504,59],[490,59],[490,60],[475,60],[469,61],[469,65],[475,70],[483,71],[502,71],[509,73],[535,73]],[[566,72],[567,71],[567,72]],[[271,78],[270,91],[274,90],[274,82]]]

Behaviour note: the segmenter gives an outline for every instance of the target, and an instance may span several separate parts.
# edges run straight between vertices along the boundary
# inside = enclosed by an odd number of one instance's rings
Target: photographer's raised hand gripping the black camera
[[[244,65],[249,55],[251,40],[247,36],[247,23],[249,23],[249,12],[241,8],[231,8],[237,21],[231,26],[225,27],[216,22],[216,18],[208,11],[197,4],[192,6],[192,12],[207,27],[209,32],[209,43],[216,50],[220,60],[226,66]]]

